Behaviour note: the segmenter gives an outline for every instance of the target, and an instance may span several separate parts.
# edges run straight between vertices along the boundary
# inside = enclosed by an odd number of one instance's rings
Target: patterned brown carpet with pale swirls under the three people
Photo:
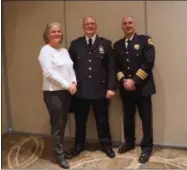
[[[65,144],[67,150],[73,143]],[[69,161],[70,168],[99,168],[99,169],[185,169],[187,168],[187,150],[155,148],[150,161],[140,164],[137,160],[141,153],[139,147],[125,154],[117,154],[110,159],[99,151],[98,144],[89,144],[90,150]],[[55,163],[50,139],[38,136],[23,136],[9,134],[2,138],[2,168],[59,168]]]

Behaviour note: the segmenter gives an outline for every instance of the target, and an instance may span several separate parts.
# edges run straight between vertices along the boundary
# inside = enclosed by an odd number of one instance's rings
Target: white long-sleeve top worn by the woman
[[[44,45],[38,60],[43,72],[43,91],[67,90],[72,82],[76,83],[73,62],[67,49]]]

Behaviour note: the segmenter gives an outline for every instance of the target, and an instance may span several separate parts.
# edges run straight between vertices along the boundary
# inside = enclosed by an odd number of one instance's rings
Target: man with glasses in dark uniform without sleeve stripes
[[[91,106],[102,150],[113,158],[115,153],[112,150],[108,107],[116,88],[114,53],[111,41],[96,34],[97,24],[93,17],[83,19],[83,30],[85,35],[73,40],[69,48],[77,77],[73,154],[77,156],[85,149],[86,122]]]

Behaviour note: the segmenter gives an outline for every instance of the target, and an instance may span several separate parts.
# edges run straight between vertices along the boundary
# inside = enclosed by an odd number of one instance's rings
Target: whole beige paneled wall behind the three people
[[[38,53],[43,45],[42,31],[50,21],[64,23],[64,2],[33,1],[4,2],[5,37],[8,60],[8,79],[13,129],[31,133],[49,133],[48,114],[41,93],[41,70]],[[177,9],[176,9],[177,8]],[[187,30],[186,2],[147,2],[148,31],[157,49],[155,77],[158,94],[154,96],[154,134],[156,144],[187,146],[185,122],[185,89],[187,73],[184,69]],[[136,9],[136,10],[135,10]],[[66,27],[69,47],[72,39],[81,36],[81,19],[93,15],[99,34],[113,42],[123,36],[121,18],[132,15],[137,19],[138,33],[145,33],[143,1],[66,1]],[[158,12],[160,10],[160,12]],[[173,11],[176,11],[173,13]],[[182,22],[177,21],[182,19]],[[163,27],[164,24],[164,27]],[[177,34],[174,35],[174,33]],[[164,60],[165,59],[165,60]],[[168,62],[169,61],[169,62]],[[180,78],[181,77],[181,78]],[[177,101],[177,99],[179,99]],[[121,103],[119,96],[112,100],[110,126],[112,138],[120,141]],[[137,116],[137,136],[141,139],[141,123]],[[178,120],[180,123],[176,123]],[[74,136],[74,118],[70,115],[66,136]],[[93,113],[89,116],[87,136],[97,139]]]

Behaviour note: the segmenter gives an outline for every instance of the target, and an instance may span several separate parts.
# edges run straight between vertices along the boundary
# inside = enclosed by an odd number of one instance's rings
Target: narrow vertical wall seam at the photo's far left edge
[[[7,73],[7,56],[6,56],[6,44],[5,44],[5,28],[4,28],[4,3],[2,3],[2,80],[4,82],[5,90],[5,105],[6,105],[6,116],[7,116],[7,131],[12,131],[12,114],[11,114],[11,104],[10,104],[10,93],[9,93],[9,83],[8,83],[8,73]]]

